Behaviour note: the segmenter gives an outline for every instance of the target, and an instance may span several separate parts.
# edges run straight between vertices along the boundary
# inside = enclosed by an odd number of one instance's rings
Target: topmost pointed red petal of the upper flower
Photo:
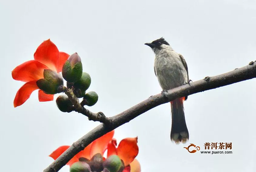
[[[36,49],[34,59],[45,64],[49,69],[57,71],[59,66],[59,50],[56,45],[48,39]]]

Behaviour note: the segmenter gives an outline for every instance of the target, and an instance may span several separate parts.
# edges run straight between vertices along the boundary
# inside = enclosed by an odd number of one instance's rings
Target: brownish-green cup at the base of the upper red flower
[[[44,79],[36,81],[36,85],[47,94],[56,94],[59,93],[58,88],[63,86],[63,79],[54,70],[45,69]]]

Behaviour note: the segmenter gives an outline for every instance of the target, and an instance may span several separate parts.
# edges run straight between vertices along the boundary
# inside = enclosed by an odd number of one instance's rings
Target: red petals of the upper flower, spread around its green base
[[[69,55],[59,52],[55,44],[50,39],[39,45],[34,54],[35,60],[29,60],[15,67],[12,71],[12,78],[26,82],[16,93],[13,105],[14,107],[22,105],[29,99],[31,93],[39,87],[36,81],[43,79],[45,69],[51,69],[61,72],[63,64]],[[38,91],[39,102],[52,101],[53,94],[45,94],[42,90]]]

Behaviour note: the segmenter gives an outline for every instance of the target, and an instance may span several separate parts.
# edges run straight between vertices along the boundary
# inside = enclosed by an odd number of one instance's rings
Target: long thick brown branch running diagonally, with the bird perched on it
[[[190,83],[190,85],[186,84],[168,90],[168,92],[166,93],[166,97],[162,94],[150,96],[150,98],[144,100],[143,102],[140,102],[139,104],[131,107],[130,109],[127,109],[126,111],[113,117],[110,117],[111,125],[107,126],[105,124],[100,124],[92,131],[80,138],[78,141],[74,142],[72,146],[67,149],[61,156],[59,156],[49,167],[47,167],[44,172],[59,171],[74,155],[76,155],[79,151],[83,150],[92,141],[158,105],[170,102],[178,97],[188,96],[197,92],[230,85],[255,77],[256,63],[251,62],[249,63],[249,65],[239,69],[235,69],[231,72],[212,77],[207,76],[203,80]]]

